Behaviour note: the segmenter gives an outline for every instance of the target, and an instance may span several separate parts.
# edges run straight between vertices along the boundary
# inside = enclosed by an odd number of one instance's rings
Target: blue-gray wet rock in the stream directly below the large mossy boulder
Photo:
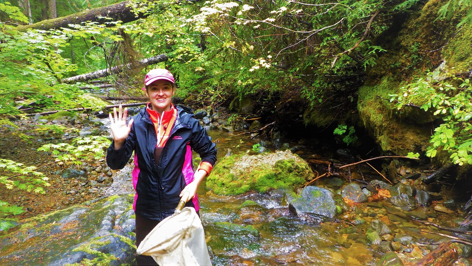
[[[337,214],[334,194],[326,188],[307,186],[299,195],[287,194],[288,208],[291,212],[315,213],[333,218]]]

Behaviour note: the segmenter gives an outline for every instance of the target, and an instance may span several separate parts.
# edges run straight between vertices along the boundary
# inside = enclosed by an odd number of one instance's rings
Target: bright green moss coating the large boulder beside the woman
[[[264,193],[270,188],[300,186],[313,177],[310,166],[301,159],[279,160],[273,166],[256,166],[235,175],[231,168],[242,156],[223,158],[207,177],[206,186],[219,195],[239,195],[250,190]]]

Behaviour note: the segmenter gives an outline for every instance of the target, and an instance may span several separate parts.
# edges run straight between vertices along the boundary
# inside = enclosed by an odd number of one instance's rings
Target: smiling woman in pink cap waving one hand
[[[126,124],[127,109],[110,114],[113,142],[107,151],[112,169],[125,167],[135,151],[133,186],[136,247],[163,219],[172,215],[180,197],[189,192],[185,206],[198,213],[197,187],[216,161],[215,144],[190,109],[173,105],[175,80],[165,69],[153,69],[144,79],[150,103]],[[144,88],[143,88],[144,89]],[[192,168],[192,150],[202,162]],[[157,265],[149,256],[136,256],[137,265]]]

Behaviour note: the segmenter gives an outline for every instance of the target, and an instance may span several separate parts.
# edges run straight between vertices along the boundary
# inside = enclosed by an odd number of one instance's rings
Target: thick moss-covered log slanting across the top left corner
[[[82,12],[71,14],[61,18],[53,18],[43,20],[32,25],[18,26],[18,30],[24,30],[27,28],[49,30],[59,29],[61,27],[70,28],[69,24],[80,24],[84,21],[92,21],[104,23],[106,20],[103,17],[112,18],[113,21],[121,20],[123,23],[135,21],[139,18],[146,18],[149,13],[138,13],[137,16],[132,11],[130,1],[123,1],[116,4],[95,8],[87,9]],[[112,26],[112,25],[110,25]]]

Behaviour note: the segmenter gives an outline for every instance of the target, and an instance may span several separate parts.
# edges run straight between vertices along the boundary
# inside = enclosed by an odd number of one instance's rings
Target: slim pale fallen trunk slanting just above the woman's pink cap
[[[153,57],[150,57],[150,58],[140,60],[139,61],[139,66],[152,65],[152,64],[159,63],[159,62],[165,62],[167,60],[168,60],[168,57],[167,57],[166,54],[160,54],[160,55],[156,55],[156,56],[153,56]],[[102,70],[99,70],[99,71],[94,71],[94,72],[90,72],[90,73],[70,77],[70,78],[67,78],[67,79],[62,79],[62,82],[72,83],[72,82],[84,82],[84,81],[87,81],[87,80],[98,79],[98,78],[109,76],[111,74],[119,73],[119,72],[123,71],[124,69],[130,69],[131,67],[135,67],[135,66],[133,66],[131,63],[125,64],[125,65],[114,66],[110,69],[102,69]]]

